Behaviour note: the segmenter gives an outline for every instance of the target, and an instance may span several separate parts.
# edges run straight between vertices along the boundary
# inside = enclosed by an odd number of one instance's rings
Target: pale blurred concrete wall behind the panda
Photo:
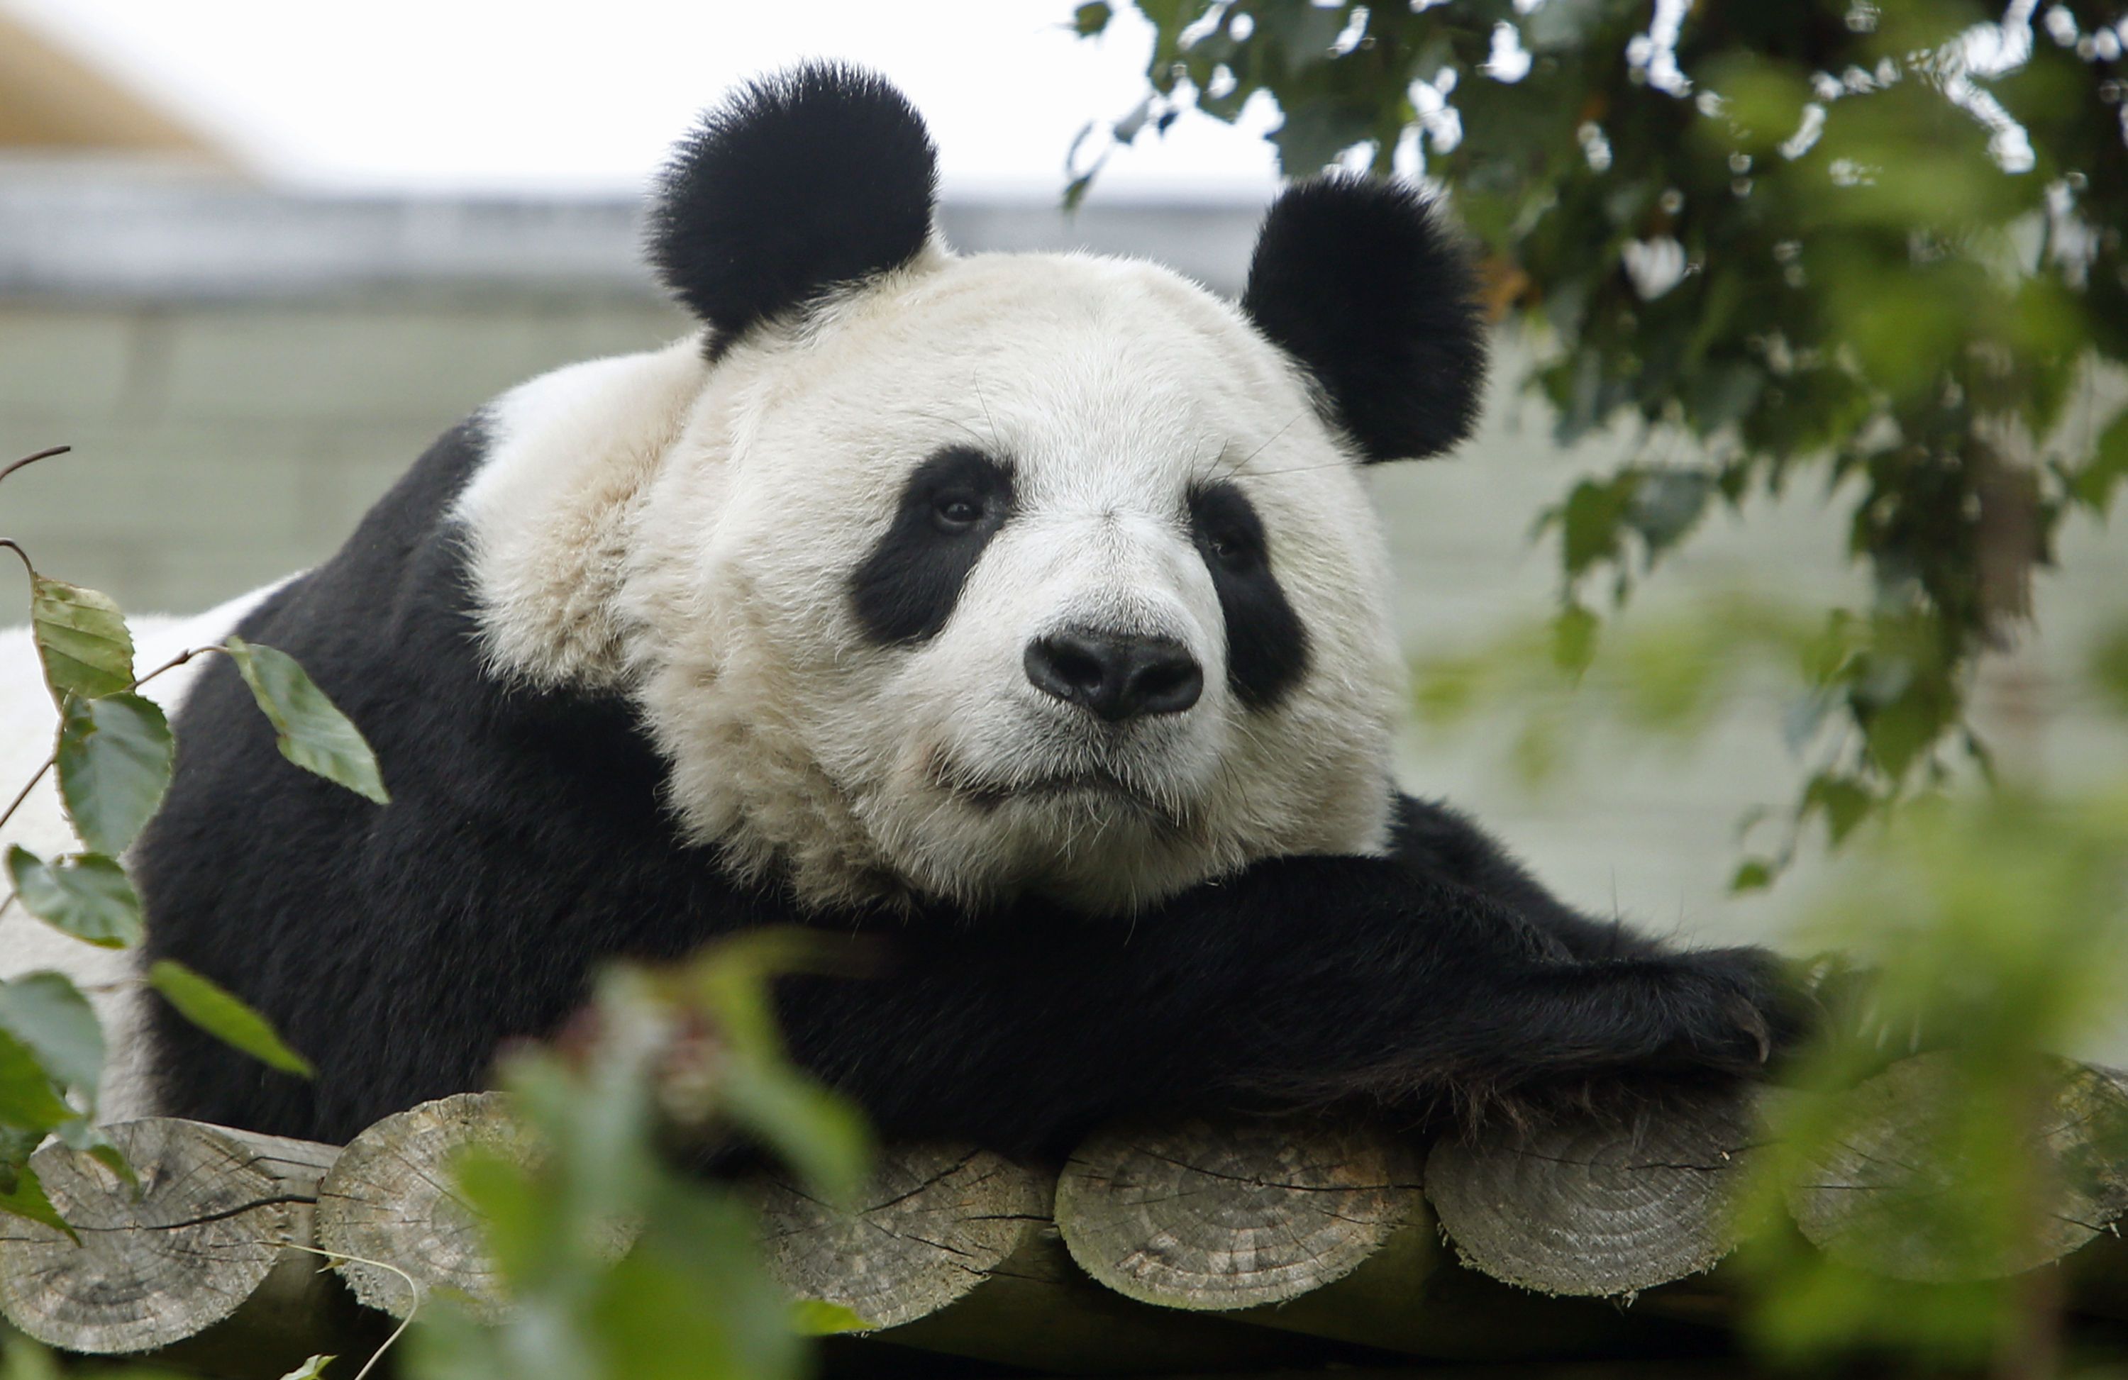
[[[685,330],[634,266],[628,208],[345,204],[334,219],[330,204],[257,193],[215,193],[206,211],[185,200],[194,193],[38,196],[11,213],[0,181],[0,457],[60,442],[77,453],[11,478],[0,529],[128,608],[204,608],[313,563],[430,438],[496,391]],[[964,247],[1092,242],[1181,262],[1232,291],[1253,211],[1064,223],[1049,208],[981,206],[945,219]],[[92,240],[111,255],[104,276],[98,255],[81,253]],[[249,289],[247,257],[260,264]],[[1547,419],[1515,393],[1519,359],[1509,342],[1483,434],[1464,453],[1373,472],[1415,655],[1545,617],[1556,555],[1530,544],[1534,512],[1632,444],[1553,447]],[[1860,600],[1843,534],[1839,506],[1805,478],[1781,504],[1753,502],[1747,521],[1711,519],[1645,604],[1728,589]],[[1981,687],[1998,746],[2030,774],[2128,772],[2122,734],[2077,702],[2068,674],[2083,629],[2128,615],[2119,529],[2071,521],[2041,615],[2047,636]],[[1407,787],[1473,808],[1581,906],[1692,938],[1758,938],[1811,887],[1805,868],[1773,897],[1724,895],[1743,812],[1794,800],[1785,710],[1770,693],[1751,700],[1685,755],[1598,727],[1587,770],[1547,793],[1507,770],[1513,714],[1451,738],[1413,731],[1400,772]]]

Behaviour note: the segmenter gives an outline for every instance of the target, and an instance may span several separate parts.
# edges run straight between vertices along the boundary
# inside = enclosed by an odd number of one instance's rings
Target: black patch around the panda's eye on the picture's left
[[[1011,515],[1013,472],[990,455],[949,447],[917,466],[887,532],[849,574],[864,632],[887,646],[938,636],[983,546]]]

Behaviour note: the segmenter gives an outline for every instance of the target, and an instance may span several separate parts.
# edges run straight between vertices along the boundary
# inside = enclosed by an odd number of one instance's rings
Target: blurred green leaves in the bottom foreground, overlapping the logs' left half
[[[762,1274],[747,1204],[668,1167],[745,1131],[815,1193],[855,1189],[862,1121],[783,1061],[768,1023],[766,978],[817,959],[815,936],[762,931],[677,970],[617,967],[553,1050],[506,1065],[545,1155],[468,1155],[458,1172],[515,1308],[498,1327],[419,1314],[415,1376],[781,1380],[804,1374],[802,1333],[858,1323],[794,1310]]]

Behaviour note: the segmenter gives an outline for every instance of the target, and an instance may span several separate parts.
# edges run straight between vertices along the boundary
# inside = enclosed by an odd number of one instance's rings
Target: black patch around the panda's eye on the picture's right
[[[1270,542],[1256,504],[1236,485],[1190,491],[1190,536],[1204,557],[1226,621],[1226,683],[1264,710],[1309,668],[1309,634],[1270,570]]]

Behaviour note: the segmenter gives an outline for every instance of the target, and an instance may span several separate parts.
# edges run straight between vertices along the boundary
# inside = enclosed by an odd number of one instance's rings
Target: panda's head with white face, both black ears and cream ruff
[[[862,72],[704,119],[651,228],[704,336],[587,366],[628,425],[519,406],[504,447],[581,434],[523,500],[536,574],[468,502],[496,661],[632,693],[687,831],[807,904],[1128,912],[1379,851],[1402,674],[1360,466],[1460,440],[1483,370],[1426,202],[1285,191],[1234,306],[1143,262],[955,257],[932,187]]]

